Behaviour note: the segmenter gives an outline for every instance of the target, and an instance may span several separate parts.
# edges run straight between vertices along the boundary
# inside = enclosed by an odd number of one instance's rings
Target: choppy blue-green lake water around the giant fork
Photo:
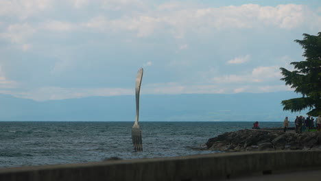
[[[252,128],[252,122],[140,122],[143,152],[134,152],[133,122],[0,122],[0,167],[54,165],[208,154],[209,138]],[[281,127],[261,122],[261,128]]]

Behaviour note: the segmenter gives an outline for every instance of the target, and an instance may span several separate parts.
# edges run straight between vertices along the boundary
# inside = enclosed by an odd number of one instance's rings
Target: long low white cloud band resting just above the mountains
[[[16,87],[14,82],[10,84],[2,84],[0,77],[0,88]],[[141,94],[189,94],[189,93],[262,93],[276,92],[281,90],[293,90],[285,85],[272,86],[224,86],[221,85],[181,85],[175,82],[161,84],[143,85]],[[34,99],[36,101],[58,100],[82,98],[91,96],[117,96],[117,95],[134,95],[132,88],[62,88],[54,86],[45,86],[25,92],[17,92],[12,90],[0,90],[0,93],[14,95],[15,97]]]

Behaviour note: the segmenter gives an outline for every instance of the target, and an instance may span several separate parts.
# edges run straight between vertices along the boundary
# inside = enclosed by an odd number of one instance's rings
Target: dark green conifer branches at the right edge
[[[318,36],[303,34],[303,40],[294,40],[305,50],[304,61],[292,62],[294,71],[280,68],[286,85],[295,88],[302,97],[283,100],[283,110],[298,112],[309,108],[308,115],[317,117],[321,114],[321,32]]]

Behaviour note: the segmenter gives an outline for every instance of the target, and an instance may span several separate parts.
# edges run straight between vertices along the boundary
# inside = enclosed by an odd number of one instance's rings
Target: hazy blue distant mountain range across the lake
[[[290,121],[278,93],[141,95],[140,121]],[[34,101],[0,94],[0,121],[134,121],[134,95]]]

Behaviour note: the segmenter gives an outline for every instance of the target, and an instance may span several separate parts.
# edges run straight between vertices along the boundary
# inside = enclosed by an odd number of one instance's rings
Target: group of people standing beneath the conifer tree
[[[317,129],[318,131],[321,130],[321,115],[319,115],[316,118],[316,121],[314,121],[313,117],[308,116],[307,118],[305,117],[296,117],[296,120],[294,121],[294,123],[296,124],[296,133],[302,133],[305,130],[307,130],[308,132],[310,131],[310,129]],[[283,131],[286,132],[287,128],[289,127],[289,121],[287,120],[287,117],[285,117],[284,121],[283,121]]]

